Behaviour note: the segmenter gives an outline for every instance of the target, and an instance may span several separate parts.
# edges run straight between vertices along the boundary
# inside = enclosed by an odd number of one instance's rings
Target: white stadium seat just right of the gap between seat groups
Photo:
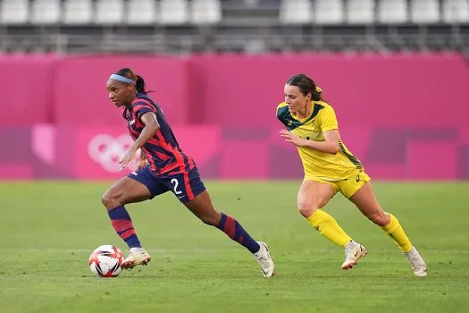
[[[309,24],[312,19],[313,6],[309,0],[282,0],[280,19],[283,24]]]

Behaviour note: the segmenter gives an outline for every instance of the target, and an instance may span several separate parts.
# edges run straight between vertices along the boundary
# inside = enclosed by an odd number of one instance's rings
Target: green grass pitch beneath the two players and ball
[[[467,312],[469,182],[375,182],[430,268],[415,277],[387,235],[341,195],[327,211],[370,253],[343,250],[297,214],[298,182],[207,182],[214,205],[269,243],[277,275],[171,193],[128,206],[149,266],[98,278],[89,253],[127,251],[100,198],[107,182],[0,183],[0,312]]]

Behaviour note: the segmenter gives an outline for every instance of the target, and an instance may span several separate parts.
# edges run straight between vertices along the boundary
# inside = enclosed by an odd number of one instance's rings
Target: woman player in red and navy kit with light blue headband
[[[141,149],[137,171],[115,182],[103,195],[113,228],[130,248],[122,267],[146,265],[151,259],[138,240],[125,205],[153,199],[170,190],[202,222],[220,229],[253,253],[262,274],[272,276],[274,264],[267,244],[255,241],[236,219],[214,208],[194,160],[180,149],[162,109],[147,96],[145,81],[124,68],[109,77],[106,88],[113,105],[123,106],[122,116],[134,140],[120,161],[121,169]]]

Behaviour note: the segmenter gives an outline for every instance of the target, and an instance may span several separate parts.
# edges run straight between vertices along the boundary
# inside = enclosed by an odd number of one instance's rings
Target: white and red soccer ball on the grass
[[[110,244],[99,246],[89,256],[89,268],[96,276],[115,277],[121,274],[124,259],[119,248]]]

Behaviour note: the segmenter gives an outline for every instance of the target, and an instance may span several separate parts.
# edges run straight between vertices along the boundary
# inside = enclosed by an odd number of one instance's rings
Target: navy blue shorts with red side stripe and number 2
[[[145,166],[137,172],[130,173],[127,177],[147,186],[152,199],[171,190],[180,199],[180,202],[186,203],[196,198],[205,190],[204,182],[200,180],[197,167],[194,167],[189,172],[160,177],[148,166]]]

